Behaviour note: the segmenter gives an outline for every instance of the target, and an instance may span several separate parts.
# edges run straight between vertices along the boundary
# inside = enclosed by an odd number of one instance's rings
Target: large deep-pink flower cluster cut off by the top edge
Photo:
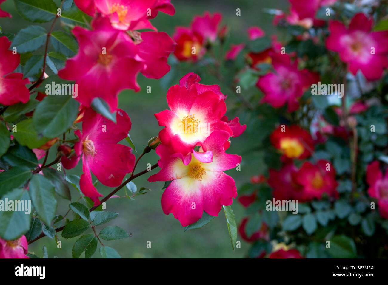
[[[58,75],[78,84],[81,104],[90,107],[96,97],[104,99],[111,111],[118,105],[118,93],[125,89],[139,91],[138,73],[159,79],[170,70],[167,58],[175,43],[154,29],[150,19],[158,11],[174,14],[169,0],[76,0],[76,5],[93,16],[92,30],[76,26],[73,34],[79,51],[66,61]]]

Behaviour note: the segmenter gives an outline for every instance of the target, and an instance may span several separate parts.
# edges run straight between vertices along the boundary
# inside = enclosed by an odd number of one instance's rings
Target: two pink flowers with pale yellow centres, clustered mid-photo
[[[246,128],[237,117],[228,121],[224,116],[226,96],[220,86],[199,81],[197,74],[186,74],[167,92],[170,110],[155,114],[159,126],[165,126],[156,148],[161,170],[148,180],[171,181],[163,192],[162,208],[182,226],[199,220],[203,211],[218,216],[222,206],[236,198],[236,184],[223,171],[238,166],[241,157],[225,150],[230,137]]]

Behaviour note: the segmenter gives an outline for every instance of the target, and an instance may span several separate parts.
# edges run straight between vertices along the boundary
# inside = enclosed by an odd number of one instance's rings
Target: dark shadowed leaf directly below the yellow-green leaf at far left
[[[3,160],[11,166],[20,166],[23,168],[34,169],[38,166],[38,159],[32,150],[23,145],[14,145],[10,147]]]

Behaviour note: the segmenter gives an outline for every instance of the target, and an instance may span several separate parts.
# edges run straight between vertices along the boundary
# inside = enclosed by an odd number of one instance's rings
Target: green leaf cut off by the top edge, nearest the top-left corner
[[[48,22],[57,14],[57,5],[52,0],[14,0],[17,12],[31,22]]]

